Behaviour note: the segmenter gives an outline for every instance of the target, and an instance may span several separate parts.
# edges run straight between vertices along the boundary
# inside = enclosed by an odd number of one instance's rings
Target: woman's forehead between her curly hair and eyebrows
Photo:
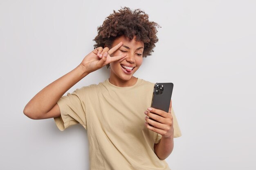
[[[117,45],[119,42],[123,42],[125,46],[128,46],[129,48],[138,48],[138,47],[144,47],[144,42],[143,41],[135,41],[136,36],[133,37],[133,39],[130,39],[126,37],[125,35],[121,35],[117,39],[113,41],[112,46]]]

